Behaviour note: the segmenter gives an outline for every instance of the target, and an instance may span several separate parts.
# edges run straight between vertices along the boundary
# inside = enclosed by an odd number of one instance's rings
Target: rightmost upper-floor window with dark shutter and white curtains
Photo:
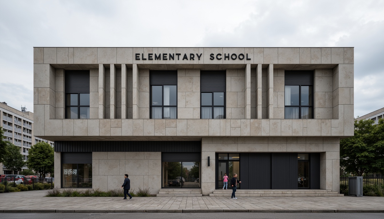
[[[313,119],[313,71],[285,71],[285,119]]]

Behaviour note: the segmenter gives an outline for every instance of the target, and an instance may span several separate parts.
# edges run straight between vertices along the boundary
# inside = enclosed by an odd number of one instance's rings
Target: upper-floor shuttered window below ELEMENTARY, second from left
[[[151,71],[151,119],[177,119],[177,72]]]

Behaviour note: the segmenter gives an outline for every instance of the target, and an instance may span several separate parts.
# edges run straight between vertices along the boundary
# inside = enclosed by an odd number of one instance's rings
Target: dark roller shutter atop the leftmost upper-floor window
[[[89,93],[89,71],[65,71],[65,92]]]

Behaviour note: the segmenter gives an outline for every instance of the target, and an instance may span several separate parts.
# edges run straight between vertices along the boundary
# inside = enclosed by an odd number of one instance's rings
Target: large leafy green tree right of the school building
[[[340,140],[340,166],[347,173],[362,176],[367,172],[382,170],[383,138],[379,132],[383,121],[380,126],[373,123],[372,120],[355,121],[354,136]],[[378,141],[380,135],[382,140]]]

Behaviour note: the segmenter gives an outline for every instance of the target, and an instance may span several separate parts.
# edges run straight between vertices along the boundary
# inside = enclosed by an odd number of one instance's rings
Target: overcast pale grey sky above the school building
[[[33,47],[354,47],[354,116],[384,107],[384,1],[0,0],[0,102],[33,112]]]

